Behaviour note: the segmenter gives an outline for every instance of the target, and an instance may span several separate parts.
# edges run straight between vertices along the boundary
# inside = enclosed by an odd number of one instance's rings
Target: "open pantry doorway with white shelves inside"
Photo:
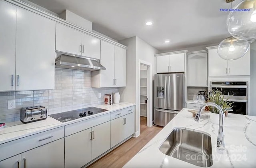
[[[138,111],[139,127],[152,126],[152,65],[139,60],[138,82]],[[140,128],[139,128],[140,130]]]

